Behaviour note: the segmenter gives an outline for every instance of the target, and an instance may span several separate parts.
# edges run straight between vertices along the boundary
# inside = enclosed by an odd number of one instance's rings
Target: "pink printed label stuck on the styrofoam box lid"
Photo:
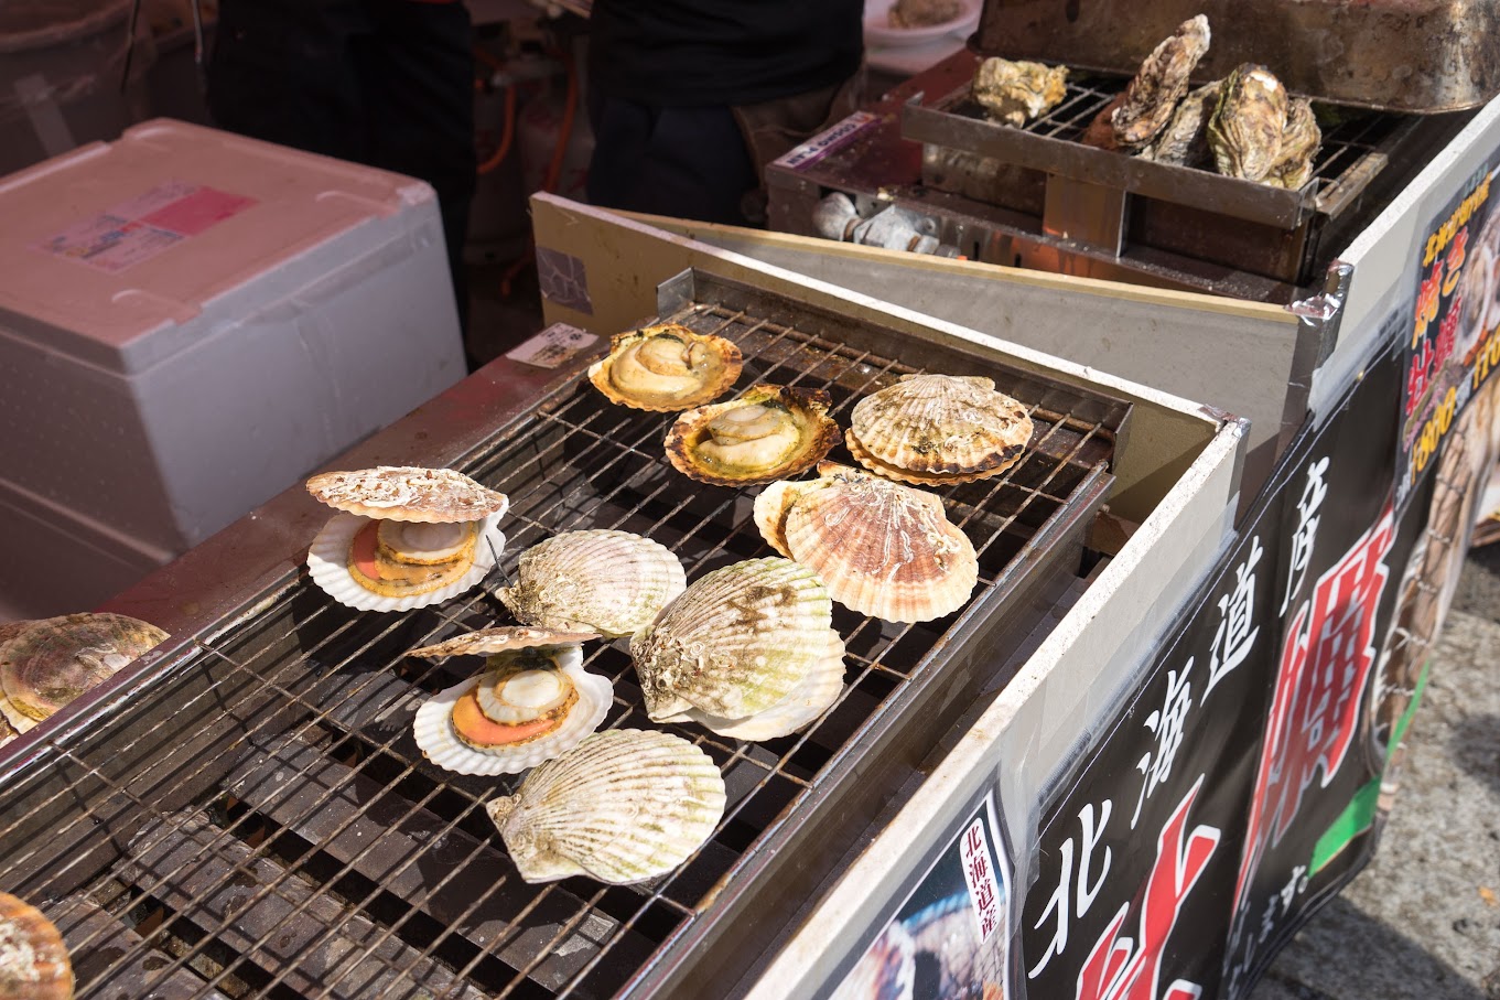
[[[234,218],[255,198],[171,180],[86,219],[32,249],[117,273]]]

